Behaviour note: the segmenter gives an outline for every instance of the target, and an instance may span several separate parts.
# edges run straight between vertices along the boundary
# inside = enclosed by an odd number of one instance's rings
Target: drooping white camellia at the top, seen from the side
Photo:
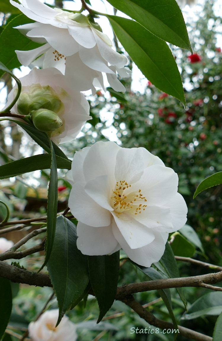
[[[128,77],[130,70],[124,68],[127,58],[111,48],[112,42],[97,23],[83,14],[52,9],[39,0],[21,0],[22,4],[10,2],[36,21],[16,28],[28,38],[46,43],[29,51],[16,50],[21,64],[28,66],[42,55],[34,64],[44,69],[59,69],[74,90],[92,89],[95,94],[95,86],[104,88],[104,72],[114,90],[125,91],[116,72],[121,77]]]

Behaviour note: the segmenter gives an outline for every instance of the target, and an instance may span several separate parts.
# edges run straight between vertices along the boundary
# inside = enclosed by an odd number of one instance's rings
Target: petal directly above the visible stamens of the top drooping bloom
[[[78,52],[79,44],[70,36],[68,30],[42,24],[27,33],[27,37],[44,37],[60,54],[71,56]]]

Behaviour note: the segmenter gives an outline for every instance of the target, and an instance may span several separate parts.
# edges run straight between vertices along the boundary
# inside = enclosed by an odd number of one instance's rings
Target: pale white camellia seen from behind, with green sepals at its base
[[[74,91],[67,85],[65,76],[56,68],[46,70],[34,68],[28,75],[20,78],[20,81],[21,95],[11,113],[28,115],[32,110],[42,107],[55,112],[62,125],[59,124],[59,128],[50,131],[49,135],[53,142],[58,144],[72,141],[83,124],[91,119],[89,102],[80,91]],[[9,93],[5,108],[12,102],[16,92],[17,85]],[[38,120],[36,128],[43,125],[43,131],[47,131],[44,130],[46,125],[44,113],[41,118],[35,120]],[[41,120],[42,124],[39,122]],[[33,123],[35,125],[34,121]]]

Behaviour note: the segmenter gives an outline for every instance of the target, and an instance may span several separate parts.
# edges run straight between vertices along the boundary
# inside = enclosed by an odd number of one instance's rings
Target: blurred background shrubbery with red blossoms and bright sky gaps
[[[61,7],[62,2],[56,3]],[[158,155],[166,166],[172,167],[178,173],[178,191],[184,196],[188,205],[188,224],[198,234],[205,251],[202,252],[195,243],[191,243],[194,247],[191,256],[195,252],[194,258],[222,266],[221,186],[208,189],[193,199],[197,185],[205,177],[222,171],[222,51],[219,43],[222,39],[218,39],[219,36],[221,37],[222,26],[221,17],[217,17],[213,3],[212,0],[205,2],[197,20],[194,16],[189,16],[189,11],[192,9],[186,8],[187,29],[194,51],[193,56],[189,56],[186,50],[171,46],[184,84],[186,108],[175,98],[158,91],[148,80],[141,93],[131,90],[131,79],[123,79],[122,82],[127,89],[125,94],[115,93],[110,89],[105,94],[97,91],[95,97],[88,96],[93,119],[86,123],[74,143],[63,144],[61,147],[72,159],[76,150],[90,146],[98,140],[111,139],[122,147],[144,147]],[[3,23],[8,17],[3,18]],[[118,46],[117,48],[120,49]],[[132,68],[131,61],[129,67]],[[6,86],[3,91],[5,93],[6,90],[10,91],[12,85],[7,75],[4,75],[1,81],[2,88]],[[1,163],[41,152],[39,147],[27,142],[14,125],[1,125],[0,128]],[[59,211],[67,207],[70,191],[70,185],[63,179],[64,174],[59,173]],[[11,219],[44,215],[47,181],[47,170],[1,181],[0,200],[9,206]],[[1,219],[4,219],[5,215],[6,209],[0,205]],[[17,241],[24,233],[27,232],[16,231],[2,236]],[[37,244],[38,240],[34,242]],[[30,244],[27,243],[26,247],[30,247]],[[185,254],[188,252],[187,248],[185,246]],[[175,245],[173,249],[176,249]],[[43,255],[35,254],[22,260],[20,265],[35,269],[39,267],[42,258]],[[207,271],[188,263],[179,262],[178,265],[182,276],[201,275]],[[131,262],[121,261],[119,285],[145,280],[147,280],[146,275]],[[35,318],[51,295],[50,288],[30,288],[20,285],[20,290],[17,289],[8,328],[9,334],[4,341],[17,340],[15,335],[21,334],[24,328],[27,328],[28,323]],[[188,308],[197,298],[209,293],[204,288],[185,288],[184,292],[188,300]],[[197,314],[194,319],[180,320],[185,309],[176,290],[172,289],[171,293],[177,321],[185,327],[211,336],[218,313],[215,313],[211,307],[211,313],[209,309],[206,314],[208,316],[198,317]],[[136,296],[157,317],[170,321],[168,311],[156,292],[140,293]],[[199,310],[202,304],[200,302]],[[56,299],[52,300],[50,305],[52,308],[57,308]],[[209,305],[212,306],[210,298]],[[218,305],[221,306],[222,311],[222,301]],[[149,325],[118,301],[114,302],[104,318],[104,323],[110,323],[106,326],[100,324],[96,326],[95,322],[92,326],[92,320],[98,316],[98,306],[93,297],[86,302],[86,308],[82,301],[68,315],[74,323],[88,322],[88,325],[79,324],[79,340],[174,339],[172,334],[132,333],[131,327],[149,328]],[[178,340],[186,339],[178,336]]]

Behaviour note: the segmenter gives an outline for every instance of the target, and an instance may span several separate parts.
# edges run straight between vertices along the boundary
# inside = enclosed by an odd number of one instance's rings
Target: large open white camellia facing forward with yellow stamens
[[[132,261],[149,267],[163,255],[169,233],[187,221],[177,174],[145,148],[96,142],[75,153],[67,178],[83,254],[122,248]]]

